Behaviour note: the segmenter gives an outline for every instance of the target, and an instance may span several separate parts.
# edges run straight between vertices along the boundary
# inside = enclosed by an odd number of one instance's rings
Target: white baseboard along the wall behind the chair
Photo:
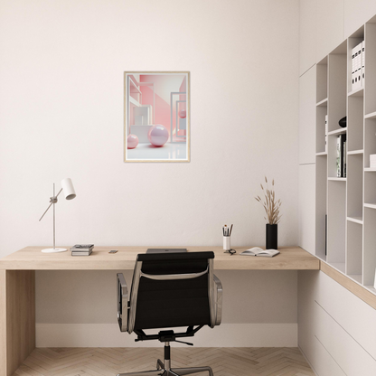
[[[160,346],[156,341],[136,343],[135,338],[120,333],[118,324],[36,324],[37,347]],[[203,327],[186,341],[196,347],[297,347],[297,324],[221,324]]]

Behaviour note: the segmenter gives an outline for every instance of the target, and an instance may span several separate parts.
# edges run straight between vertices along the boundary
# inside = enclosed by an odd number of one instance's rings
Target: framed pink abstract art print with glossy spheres
[[[124,161],[190,162],[190,72],[124,73]]]

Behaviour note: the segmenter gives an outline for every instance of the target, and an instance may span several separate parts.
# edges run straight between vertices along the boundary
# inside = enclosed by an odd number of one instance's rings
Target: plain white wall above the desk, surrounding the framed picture
[[[296,245],[298,0],[3,0],[0,51],[0,257],[52,244],[64,177],[60,246],[263,246],[264,175]],[[124,71],[191,71],[191,163],[123,162]]]

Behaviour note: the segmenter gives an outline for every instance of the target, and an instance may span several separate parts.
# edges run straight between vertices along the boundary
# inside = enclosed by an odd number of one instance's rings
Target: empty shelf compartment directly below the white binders
[[[347,108],[347,148],[360,150],[363,148],[363,98],[351,97]]]

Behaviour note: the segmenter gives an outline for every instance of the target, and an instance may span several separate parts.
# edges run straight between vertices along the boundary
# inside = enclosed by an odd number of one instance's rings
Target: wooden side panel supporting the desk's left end
[[[35,348],[35,271],[1,270],[0,374],[12,376]]]

